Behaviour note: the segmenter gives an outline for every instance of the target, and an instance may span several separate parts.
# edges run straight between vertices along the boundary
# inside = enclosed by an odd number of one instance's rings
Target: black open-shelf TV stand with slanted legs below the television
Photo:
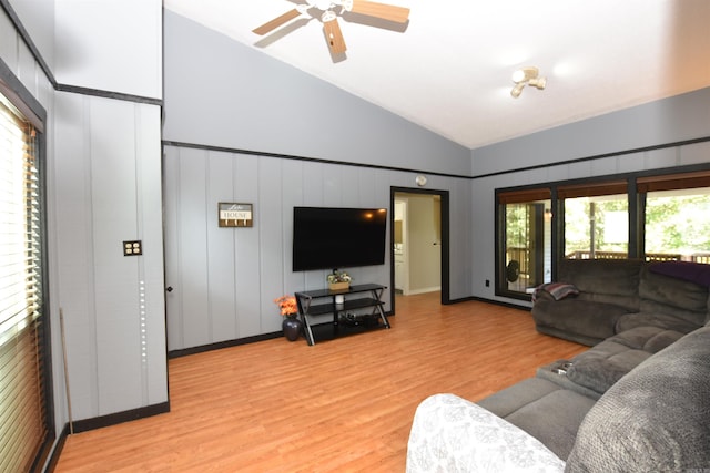
[[[298,317],[303,322],[308,345],[315,345],[316,340],[332,340],[337,337],[361,333],[377,328],[389,328],[389,321],[383,310],[385,302],[382,301],[382,295],[386,288],[386,286],[382,285],[365,284],[351,286],[349,289],[344,290],[318,289],[296,292]],[[336,296],[345,298],[343,304],[335,304]],[[341,315],[367,308],[372,308],[372,315],[368,320],[341,321]],[[311,317],[328,313],[333,315],[332,322],[311,323]],[[377,319],[382,319],[382,323]]]

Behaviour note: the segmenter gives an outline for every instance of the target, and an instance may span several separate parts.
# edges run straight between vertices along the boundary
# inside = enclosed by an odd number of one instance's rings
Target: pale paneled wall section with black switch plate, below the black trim
[[[160,109],[57,93],[58,304],[75,419],[168,400]],[[122,241],[143,241],[124,257]]]

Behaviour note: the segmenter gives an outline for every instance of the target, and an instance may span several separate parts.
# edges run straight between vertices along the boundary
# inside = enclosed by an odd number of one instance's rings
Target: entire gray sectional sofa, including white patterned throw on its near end
[[[710,266],[566,260],[537,330],[592,346],[415,413],[407,471],[710,471]]]

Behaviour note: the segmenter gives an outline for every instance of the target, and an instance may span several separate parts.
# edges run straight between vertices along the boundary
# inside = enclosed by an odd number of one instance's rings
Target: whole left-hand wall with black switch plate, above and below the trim
[[[39,56],[0,10],[0,58],[48,112],[48,308],[59,433],[69,421],[60,308],[73,420],[168,401],[161,107],[52,85],[160,100],[162,2],[10,6]],[[124,239],[142,239],[145,255],[124,258]]]

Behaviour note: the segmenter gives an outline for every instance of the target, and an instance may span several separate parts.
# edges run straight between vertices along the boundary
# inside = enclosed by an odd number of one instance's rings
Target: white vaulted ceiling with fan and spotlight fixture
[[[317,19],[252,33],[305,0],[163,1],[469,148],[710,86],[710,0],[381,2],[410,8],[404,31],[341,18],[347,53],[334,59]],[[525,65],[547,88],[513,99]]]

